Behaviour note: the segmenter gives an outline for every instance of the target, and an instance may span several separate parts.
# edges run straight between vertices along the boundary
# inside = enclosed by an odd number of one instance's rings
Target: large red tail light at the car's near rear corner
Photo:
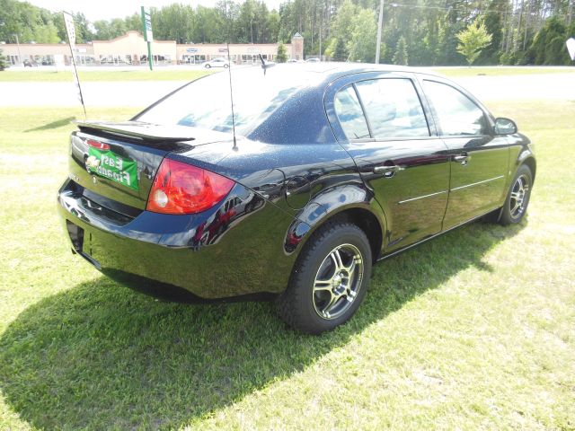
[[[187,163],[164,159],[155,174],[146,209],[163,214],[194,214],[217,204],[234,181]]]

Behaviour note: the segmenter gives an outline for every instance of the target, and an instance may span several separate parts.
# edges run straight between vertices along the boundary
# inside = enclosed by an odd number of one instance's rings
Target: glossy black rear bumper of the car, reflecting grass
[[[172,296],[179,288],[217,299],[278,294],[288,286],[295,253],[283,244],[293,219],[239,184],[216,207],[193,216],[123,216],[86,198],[72,180],[57,201],[73,251],[137,290]]]

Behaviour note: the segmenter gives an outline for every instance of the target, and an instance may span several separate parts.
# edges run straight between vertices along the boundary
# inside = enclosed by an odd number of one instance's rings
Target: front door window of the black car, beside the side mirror
[[[488,133],[483,111],[463,92],[450,85],[423,81],[443,136],[484,135]]]

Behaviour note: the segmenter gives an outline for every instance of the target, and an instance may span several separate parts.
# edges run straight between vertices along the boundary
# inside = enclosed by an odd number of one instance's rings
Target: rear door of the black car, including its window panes
[[[447,207],[447,147],[429,127],[411,74],[360,75],[332,89],[334,132],[384,209],[385,252],[438,233]]]

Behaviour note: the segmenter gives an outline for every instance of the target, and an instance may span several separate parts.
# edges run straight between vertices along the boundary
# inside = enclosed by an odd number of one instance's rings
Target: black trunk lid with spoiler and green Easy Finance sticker
[[[96,203],[134,216],[143,210],[164,156],[228,140],[229,134],[139,121],[77,123],[70,142],[69,177]]]

